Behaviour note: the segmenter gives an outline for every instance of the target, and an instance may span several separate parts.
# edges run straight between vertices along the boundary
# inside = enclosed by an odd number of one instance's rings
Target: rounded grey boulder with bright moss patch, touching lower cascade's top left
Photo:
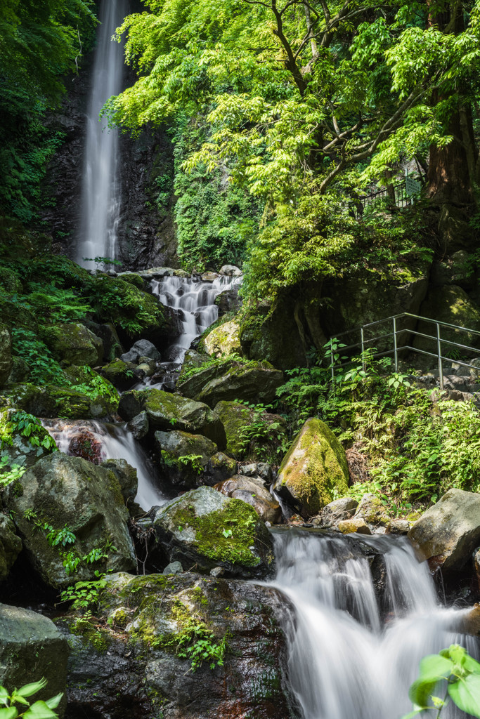
[[[273,569],[271,537],[253,507],[212,487],[191,490],[160,508],[153,526],[170,562],[200,572],[220,566],[237,577],[261,577]]]

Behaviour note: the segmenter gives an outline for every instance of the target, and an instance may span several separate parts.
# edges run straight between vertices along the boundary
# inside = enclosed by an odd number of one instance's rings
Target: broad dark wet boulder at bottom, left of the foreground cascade
[[[112,574],[106,581],[96,626],[70,620],[67,633],[75,716],[124,719],[125,707],[139,719],[298,716],[284,667],[284,603],[275,589],[191,572]],[[199,633],[181,652],[189,626]],[[211,667],[207,657],[193,671],[190,652],[205,631],[212,649],[221,651],[226,638],[223,664]]]

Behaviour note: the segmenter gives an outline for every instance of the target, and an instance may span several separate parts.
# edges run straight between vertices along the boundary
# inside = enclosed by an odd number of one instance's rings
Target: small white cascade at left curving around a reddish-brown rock
[[[158,488],[153,464],[126,424],[83,419],[44,419],[42,424],[55,439],[60,452],[93,459],[96,464],[105,459],[125,459],[135,467],[138,477],[135,501],[142,509],[166,503],[167,497]]]

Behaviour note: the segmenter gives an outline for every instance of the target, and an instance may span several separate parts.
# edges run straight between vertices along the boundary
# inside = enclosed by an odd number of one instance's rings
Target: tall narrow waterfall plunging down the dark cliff
[[[127,0],[102,0],[100,26],[91,76],[83,157],[81,224],[76,261],[83,257],[116,257],[120,209],[119,137],[108,129],[101,108],[122,90],[123,48],[111,38],[127,13]]]

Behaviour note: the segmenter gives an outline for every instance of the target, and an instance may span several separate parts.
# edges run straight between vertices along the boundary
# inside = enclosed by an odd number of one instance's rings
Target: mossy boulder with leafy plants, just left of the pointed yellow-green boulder
[[[284,418],[255,411],[240,402],[219,402],[214,411],[225,427],[227,454],[253,462],[256,459],[279,461],[279,452],[287,443]]]

